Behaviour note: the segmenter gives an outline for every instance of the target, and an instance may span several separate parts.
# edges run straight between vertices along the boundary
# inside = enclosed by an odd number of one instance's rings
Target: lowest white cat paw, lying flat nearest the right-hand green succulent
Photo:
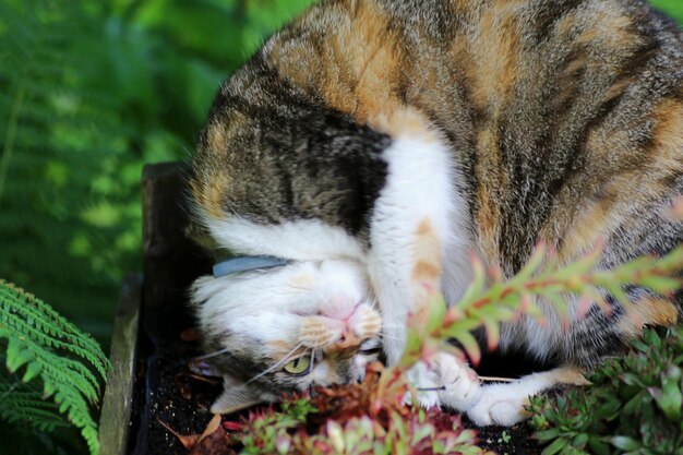
[[[467,410],[467,417],[479,427],[504,426],[512,427],[529,417],[524,406],[529,404],[526,396],[502,397],[496,393],[483,396],[471,408]]]

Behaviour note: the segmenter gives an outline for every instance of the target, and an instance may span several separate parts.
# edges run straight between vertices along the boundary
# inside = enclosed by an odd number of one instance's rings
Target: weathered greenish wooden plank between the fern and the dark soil
[[[99,418],[99,455],[124,455],[133,397],[142,275],[123,278],[113,321],[107,387]]]

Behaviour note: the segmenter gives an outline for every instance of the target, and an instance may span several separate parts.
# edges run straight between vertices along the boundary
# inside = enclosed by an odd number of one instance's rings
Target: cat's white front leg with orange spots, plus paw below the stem
[[[426,323],[430,299],[441,289],[446,253],[454,243],[465,243],[458,218],[467,211],[456,191],[453,153],[438,131],[414,111],[394,115],[383,127],[393,142],[383,154],[388,173],[374,204],[368,265],[383,316],[384,351],[388,364],[395,364],[405,350],[407,325]],[[451,405],[469,405],[479,386],[476,374],[445,352],[436,358],[418,362],[407,374],[421,391],[420,404],[431,407],[448,398]],[[471,380],[456,381],[456,370]],[[438,392],[444,386],[440,371],[459,384]]]

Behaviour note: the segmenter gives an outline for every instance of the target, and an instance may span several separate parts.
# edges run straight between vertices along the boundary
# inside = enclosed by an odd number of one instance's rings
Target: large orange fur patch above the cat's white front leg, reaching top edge
[[[403,60],[399,33],[374,2],[340,2],[324,14],[324,21],[337,24],[334,34],[314,29],[291,43],[277,37],[283,41],[272,46],[268,59],[281,75],[359,123],[391,113],[400,105],[395,94]]]

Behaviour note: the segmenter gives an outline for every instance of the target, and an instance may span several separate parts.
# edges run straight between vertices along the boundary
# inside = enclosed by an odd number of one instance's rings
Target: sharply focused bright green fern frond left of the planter
[[[58,420],[49,415],[65,414],[81,429],[91,453],[96,454],[97,424],[89,406],[97,404],[100,382],[111,368],[99,345],[47,303],[2,279],[0,340],[10,373],[23,372],[23,383],[8,383],[0,376],[0,418],[26,420],[50,430]],[[43,390],[26,388],[35,385],[36,378],[40,378]],[[45,402],[49,397],[52,400]]]

